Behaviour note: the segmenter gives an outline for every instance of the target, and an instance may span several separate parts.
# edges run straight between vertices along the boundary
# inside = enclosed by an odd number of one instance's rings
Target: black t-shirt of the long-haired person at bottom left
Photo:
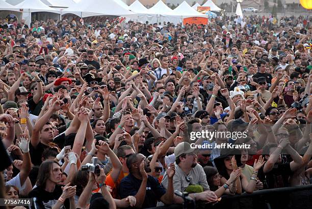
[[[31,208],[52,208],[62,195],[61,185],[56,185],[53,192],[47,192],[41,187],[36,187],[29,193],[29,198],[33,198],[34,204]],[[36,198],[36,199],[35,199]],[[69,208],[69,200],[66,199],[62,209]]]

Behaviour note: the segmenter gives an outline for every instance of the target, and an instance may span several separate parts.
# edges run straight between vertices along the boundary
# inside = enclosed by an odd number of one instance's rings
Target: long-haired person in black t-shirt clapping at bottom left
[[[73,152],[72,152],[73,153]],[[69,156],[70,163],[76,159]],[[53,160],[44,161],[40,167],[36,182],[36,188],[29,193],[29,198],[33,198],[36,208],[75,208],[74,195],[76,186],[69,186],[62,189],[58,183],[62,179],[61,166]]]

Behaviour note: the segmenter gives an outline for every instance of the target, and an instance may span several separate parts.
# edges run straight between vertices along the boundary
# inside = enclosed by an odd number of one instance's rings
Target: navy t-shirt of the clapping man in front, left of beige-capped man
[[[127,196],[135,196],[141,186],[142,180],[137,179],[134,175],[129,174],[124,177],[120,182],[119,194],[121,198]],[[166,189],[159,184],[158,179],[150,175],[147,177],[146,195],[142,208],[155,207],[157,201],[166,193]]]

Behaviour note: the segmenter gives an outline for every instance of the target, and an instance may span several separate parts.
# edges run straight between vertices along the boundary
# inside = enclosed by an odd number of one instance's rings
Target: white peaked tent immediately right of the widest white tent
[[[132,5],[129,6],[129,10],[138,14],[135,21],[142,21],[143,19],[148,22],[157,21],[157,14],[149,11],[139,0],[136,0]]]

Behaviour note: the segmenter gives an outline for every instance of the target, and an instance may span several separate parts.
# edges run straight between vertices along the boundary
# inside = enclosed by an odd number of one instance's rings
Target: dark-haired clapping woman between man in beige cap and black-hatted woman
[[[211,191],[215,192],[217,197],[221,197],[221,195],[231,194],[235,195],[236,193],[236,184],[232,184],[241,174],[241,170],[237,169],[232,171],[229,179],[221,186],[221,177],[218,173],[218,170],[212,166],[205,166],[204,172],[206,174],[206,179]]]

